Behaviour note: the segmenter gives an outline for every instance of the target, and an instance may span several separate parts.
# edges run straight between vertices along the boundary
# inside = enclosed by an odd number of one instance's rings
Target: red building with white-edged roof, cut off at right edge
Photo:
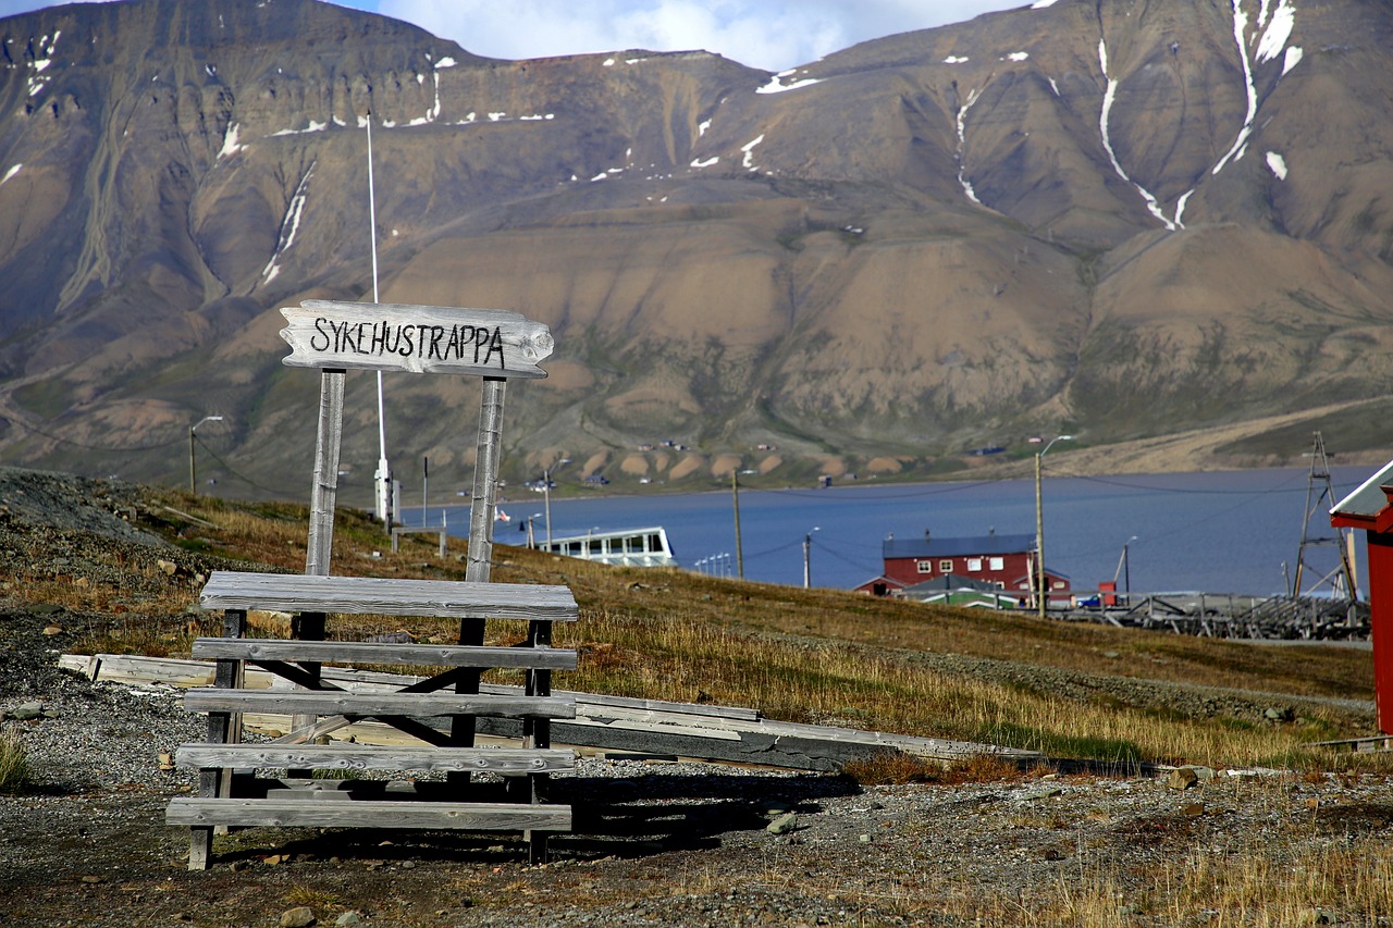
[[[1334,528],[1364,529],[1369,553],[1369,638],[1379,732],[1393,733],[1393,461],[1330,510]]]

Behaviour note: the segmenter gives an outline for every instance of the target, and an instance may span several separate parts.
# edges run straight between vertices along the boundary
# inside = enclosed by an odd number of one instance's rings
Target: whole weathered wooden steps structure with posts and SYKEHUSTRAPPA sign
[[[223,610],[223,637],[195,641],[194,656],[216,660],[215,686],[189,690],[185,706],[208,713],[208,741],[177,754],[180,765],[199,771],[199,794],[171,800],[166,822],[191,829],[189,869],[208,867],[215,829],[256,825],[521,830],[532,863],[545,861],[547,835],[571,828],[570,807],[547,803],[547,780],[574,766],[573,751],[550,747],[550,722],[575,718],[573,695],[552,695],[552,672],[575,667],[574,651],[552,648],[552,624],[575,621],[578,609],[566,587],[490,582],[490,564],[507,379],[545,376],[536,362],[552,351],[550,333],[517,314],[481,309],[306,301],[281,312],[290,323],[281,336],[293,348],[286,364],[320,368],[305,574],[215,571],[203,587],[201,606]],[[483,376],[462,582],[330,575],[350,366]],[[252,609],[291,613],[291,637],[247,638]],[[456,619],[458,644],[326,640],[329,616],[365,613]],[[490,619],[525,620],[527,644],[485,647]],[[277,684],[247,688],[248,663],[276,674]],[[383,693],[327,680],[323,663],[444,669]],[[481,693],[488,667],[525,670],[524,693]],[[244,744],[244,712],[288,713],[293,730],[272,743]],[[366,718],[421,745],[330,741],[333,732]],[[520,720],[521,748],[475,747],[479,718]],[[259,778],[259,769],[286,775]],[[318,769],[442,773],[444,780],[407,789],[315,779]],[[472,773],[501,775],[508,801],[465,801],[479,786],[471,784]]]

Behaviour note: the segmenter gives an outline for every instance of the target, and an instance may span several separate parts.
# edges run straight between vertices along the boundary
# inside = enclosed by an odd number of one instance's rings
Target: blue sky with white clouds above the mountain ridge
[[[274,3],[274,0],[270,0]],[[896,32],[1029,0],[343,0],[414,22],[475,54],[706,49],[770,71]],[[0,0],[0,17],[54,6]]]

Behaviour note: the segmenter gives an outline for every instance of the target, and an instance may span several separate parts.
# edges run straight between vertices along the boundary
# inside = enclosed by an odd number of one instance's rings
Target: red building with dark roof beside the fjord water
[[[894,595],[897,589],[914,587],[940,577],[963,577],[976,584],[990,584],[1034,602],[1035,536],[979,535],[976,538],[924,538],[910,541],[886,539],[880,546],[885,573],[857,587],[878,596]],[[1045,569],[1045,582],[1050,602],[1068,602],[1068,577]]]

